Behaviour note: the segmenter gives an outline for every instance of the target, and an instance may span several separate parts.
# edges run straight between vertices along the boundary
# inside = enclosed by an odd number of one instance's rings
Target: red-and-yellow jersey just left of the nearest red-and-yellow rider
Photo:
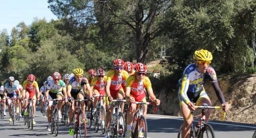
[[[116,75],[115,70],[110,70],[106,75],[108,78],[106,81],[111,81],[110,89],[119,90],[122,86],[126,86],[126,79],[129,77],[129,74],[126,71],[122,71],[121,75]]]

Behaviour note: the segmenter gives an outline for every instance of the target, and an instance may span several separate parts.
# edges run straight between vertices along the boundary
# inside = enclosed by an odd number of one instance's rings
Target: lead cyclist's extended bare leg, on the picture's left
[[[183,102],[180,101],[180,110],[183,116],[183,120],[184,120],[184,125],[182,128],[182,137],[188,138],[189,137],[189,132],[190,132],[190,127],[192,125],[193,122],[193,117],[190,116],[190,109],[188,108],[188,106]],[[187,119],[190,116],[189,119]]]

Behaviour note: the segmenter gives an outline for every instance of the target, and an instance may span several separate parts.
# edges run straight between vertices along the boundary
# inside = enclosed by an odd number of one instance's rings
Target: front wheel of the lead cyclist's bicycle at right
[[[204,124],[204,127],[199,130],[198,138],[215,138],[214,129],[209,124]]]

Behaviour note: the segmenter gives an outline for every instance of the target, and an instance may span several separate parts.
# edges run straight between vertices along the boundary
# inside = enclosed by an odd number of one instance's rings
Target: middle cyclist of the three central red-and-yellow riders
[[[123,70],[124,61],[122,59],[116,59],[113,61],[114,69],[108,72],[106,79],[106,94],[108,100],[111,102],[114,98],[124,99],[123,88],[126,85],[126,79],[129,74]],[[121,103],[121,111],[123,111],[124,104]],[[113,113],[114,105],[110,105],[108,112],[106,113],[106,128],[108,129],[105,133],[105,137],[109,137],[109,129],[111,122],[111,114]]]

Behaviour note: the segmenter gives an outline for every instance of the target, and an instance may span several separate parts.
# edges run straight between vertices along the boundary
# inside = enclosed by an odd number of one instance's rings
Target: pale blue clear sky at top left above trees
[[[7,29],[8,34],[19,22],[27,26],[32,24],[35,17],[47,21],[57,19],[48,9],[47,0],[0,0],[0,31]]]

